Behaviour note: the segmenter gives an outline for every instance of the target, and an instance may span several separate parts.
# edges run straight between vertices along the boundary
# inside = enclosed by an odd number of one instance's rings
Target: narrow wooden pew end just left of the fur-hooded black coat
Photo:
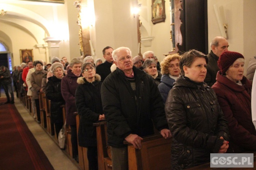
[[[78,130],[79,130],[79,123],[80,123],[80,117],[77,112],[74,113],[76,115],[76,130],[77,130],[77,143],[78,143]],[[79,158],[79,166],[87,170],[89,169],[89,163],[87,158],[87,148],[81,147],[78,144],[78,158]]]

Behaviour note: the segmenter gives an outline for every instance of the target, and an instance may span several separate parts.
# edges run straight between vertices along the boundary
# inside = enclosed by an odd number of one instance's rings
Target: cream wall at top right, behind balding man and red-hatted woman
[[[245,57],[244,75],[248,61],[256,55],[256,1],[255,0],[208,0],[208,37],[221,36],[213,5],[223,5],[228,24],[229,50],[236,51]],[[209,47],[210,51],[210,47]]]

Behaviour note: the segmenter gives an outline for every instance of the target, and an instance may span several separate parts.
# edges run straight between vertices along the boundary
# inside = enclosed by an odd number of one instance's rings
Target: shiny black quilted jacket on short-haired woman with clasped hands
[[[166,117],[173,136],[172,169],[191,168],[210,162],[223,136],[229,140],[227,120],[212,88],[179,78],[165,103]]]

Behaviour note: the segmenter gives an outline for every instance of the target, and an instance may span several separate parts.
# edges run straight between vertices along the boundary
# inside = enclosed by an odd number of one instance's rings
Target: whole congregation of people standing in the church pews
[[[128,169],[123,141],[141,149],[154,129],[172,138],[166,148],[172,169],[186,169],[210,162],[210,153],[256,151],[256,58],[246,78],[244,56],[228,51],[224,37],[215,37],[210,47],[208,55],[189,50],[159,62],[153,51],[132,57],[127,47],[107,46],[104,62],[86,55],[70,62],[66,57],[53,57],[49,64],[28,61],[12,73],[1,66],[0,84],[6,103],[14,103],[14,90],[17,97],[30,96],[39,123],[39,92],[45,92],[55,133],[63,123],[71,127],[73,158],[78,161],[78,145],[86,147],[89,169],[98,169],[93,126],[98,121],[107,122],[114,170]],[[80,115],[78,133],[74,112]]]

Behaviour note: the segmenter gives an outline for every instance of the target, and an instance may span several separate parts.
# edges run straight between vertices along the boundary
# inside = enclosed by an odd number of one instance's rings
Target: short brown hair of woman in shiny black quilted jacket
[[[189,50],[188,52],[185,52],[184,54],[181,55],[181,60],[180,60],[181,75],[183,76],[185,75],[183,66],[187,66],[188,68],[190,68],[197,57],[199,58],[204,57],[206,64],[208,63],[208,57],[204,53],[197,50]]]

